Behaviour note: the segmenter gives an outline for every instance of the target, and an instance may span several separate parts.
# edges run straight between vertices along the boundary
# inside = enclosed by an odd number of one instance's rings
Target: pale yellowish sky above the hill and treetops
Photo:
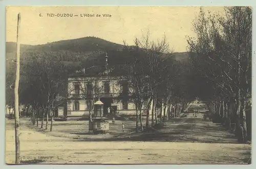
[[[223,7],[204,7],[204,10],[223,14]],[[141,38],[149,31],[151,40],[165,35],[171,49],[185,52],[186,36],[195,37],[192,22],[199,11],[200,7],[9,6],[6,8],[6,41],[16,42],[17,14],[20,13],[19,41],[22,44],[95,36],[119,44],[124,40],[133,45],[135,37]],[[73,14],[73,17],[50,14]],[[94,14],[94,17],[84,17],[85,14]]]

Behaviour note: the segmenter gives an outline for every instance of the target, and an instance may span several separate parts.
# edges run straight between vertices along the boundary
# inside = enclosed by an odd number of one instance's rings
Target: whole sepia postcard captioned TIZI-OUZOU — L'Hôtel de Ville
[[[250,164],[250,7],[6,8],[6,163]]]

